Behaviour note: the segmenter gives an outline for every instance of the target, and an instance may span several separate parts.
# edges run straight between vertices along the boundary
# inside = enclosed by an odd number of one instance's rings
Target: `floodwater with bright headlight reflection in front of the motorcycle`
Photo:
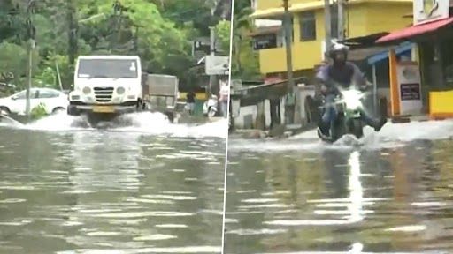
[[[453,122],[229,140],[225,253],[453,253]]]

